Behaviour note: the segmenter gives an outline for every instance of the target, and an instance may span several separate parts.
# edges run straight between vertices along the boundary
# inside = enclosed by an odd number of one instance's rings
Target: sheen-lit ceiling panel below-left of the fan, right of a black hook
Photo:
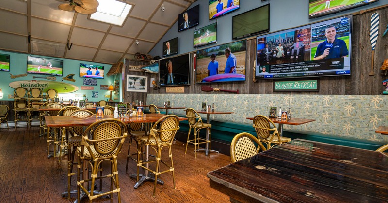
[[[31,18],[31,36],[55,42],[66,42],[70,26],[40,18]]]

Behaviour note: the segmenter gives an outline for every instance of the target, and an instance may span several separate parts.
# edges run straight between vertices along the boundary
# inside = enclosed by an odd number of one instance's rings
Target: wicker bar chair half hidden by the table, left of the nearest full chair
[[[93,105],[93,104],[92,104]],[[79,109],[71,113],[70,116],[76,116],[76,117],[88,117],[88,116],[94,116],[95,114],[91,111],[88,111],[86,109]],[[69,139],[67,139],[67,193],[62,194],[66,195],[67,198],[70,199],[70,194],[72,193],[71,188],[71,176],[75,175],[73,173],[73,164],[74,164],[74,155],[75,155],[75,149],[82,144],[82,135],[84,132],[84,126],[74,126],[69,128],[69,132],[72,135]],[[73,192],[75,193],[75,192]]]

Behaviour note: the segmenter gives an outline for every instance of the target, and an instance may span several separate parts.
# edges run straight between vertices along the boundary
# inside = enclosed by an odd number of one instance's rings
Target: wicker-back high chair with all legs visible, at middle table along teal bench
[[[211,145],[210,145],[210,140],[211,140],[210,139],[210,136],[211,136],[210,128],[211,128],[211,124],[204,123],[202,121],[201,116],[199,116],[198,112],[196,112],[192,108],[187,108],[186,109],[186,117],[187,117],[187,119],[189,121],[190,128],[189,128],[189,134],[187,135],[187,143],[186,143],[185,154],[187,153],[187,146],[189,145],[189,143],[191,143],[191,144],[194,144],[195,158],[197,158],[197,146],[199,148],[199,144],[209,143],[209,155],[210,155],[210,149],[211,149]],[[194,129],[194,139],[192,139],[192,140],[190,140],[191,129]],[[209,140],[199,137],[199,130],[201,130],[201,129],[207,129],[209,131]]]

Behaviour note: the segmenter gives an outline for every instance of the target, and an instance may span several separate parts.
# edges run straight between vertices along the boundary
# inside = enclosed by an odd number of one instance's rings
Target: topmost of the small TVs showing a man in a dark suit
[[[192,28],[199,24],[199,5],[186,10],[178,16],[178,31]]]

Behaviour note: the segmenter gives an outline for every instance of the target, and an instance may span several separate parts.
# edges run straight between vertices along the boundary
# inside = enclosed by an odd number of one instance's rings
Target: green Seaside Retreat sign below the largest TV
[[[319,91],[319,80],[275,81],[274,92]]]

